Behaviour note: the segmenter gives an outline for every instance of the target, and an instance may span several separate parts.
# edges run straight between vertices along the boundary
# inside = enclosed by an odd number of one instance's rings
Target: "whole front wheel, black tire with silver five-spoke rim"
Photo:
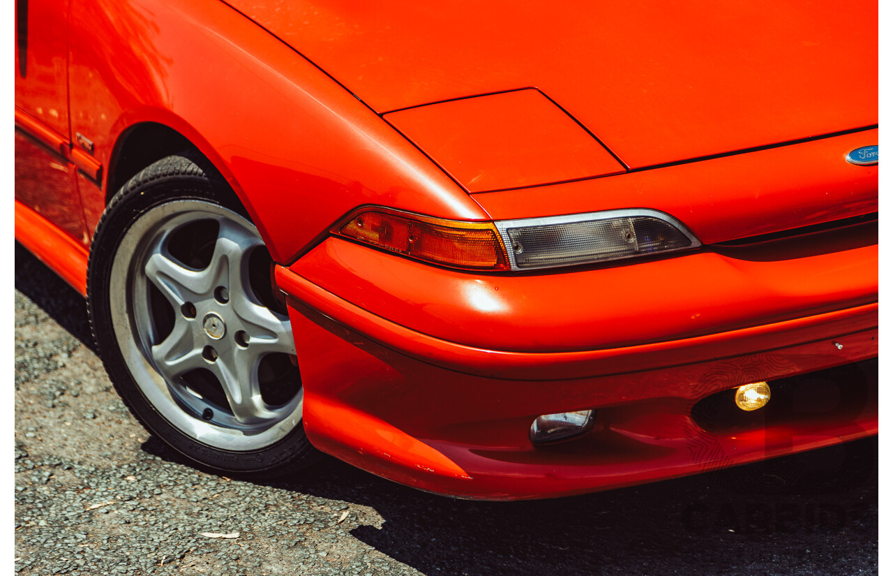
[[[105,371],[147,430],[215,472],[270,479],[315,460],[271,266],[194,151],[140,171],[96,227],[88,309]]]

